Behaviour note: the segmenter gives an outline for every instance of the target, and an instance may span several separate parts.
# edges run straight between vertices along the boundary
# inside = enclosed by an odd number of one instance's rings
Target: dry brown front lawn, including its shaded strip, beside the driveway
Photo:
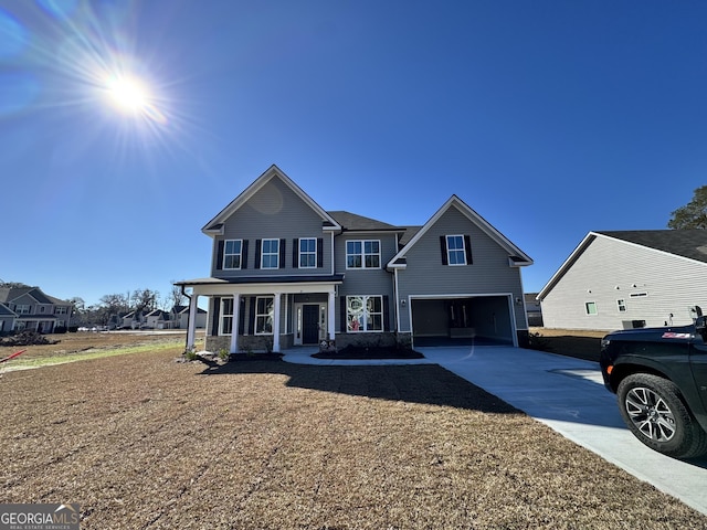
[[[439,367],[179,352],[6,373],[2,502],[99,530],[707,527]]]

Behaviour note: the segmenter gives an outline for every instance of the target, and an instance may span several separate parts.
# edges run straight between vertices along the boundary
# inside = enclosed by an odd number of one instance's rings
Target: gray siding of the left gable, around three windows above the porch
[[[234,278],[241,276],[325,275],[331,274],[331,236],[324,233],[321,218],[297,197],[278,178],[273,178],[224,223],[224,233],[214,239],[211,258],[211,276]],[[293,267],[294,239],[317,237],[323,243],[323,266],[318,268]],[[256,240],[285,240],[284,268],[255,268]],[[219,242],[247,241],[246,268],[217,269]]]

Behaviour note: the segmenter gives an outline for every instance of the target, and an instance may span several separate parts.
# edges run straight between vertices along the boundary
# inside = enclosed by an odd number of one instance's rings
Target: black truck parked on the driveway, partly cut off
[[[609,333],[600,365],[631,432],[675,458],[707,454],[707,317]]]

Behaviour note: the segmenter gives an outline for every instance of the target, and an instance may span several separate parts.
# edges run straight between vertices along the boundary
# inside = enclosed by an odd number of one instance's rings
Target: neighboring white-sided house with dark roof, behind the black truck
[[[538,294],[548,328],[692,324],[707,312],[707,231],[590,232]]]

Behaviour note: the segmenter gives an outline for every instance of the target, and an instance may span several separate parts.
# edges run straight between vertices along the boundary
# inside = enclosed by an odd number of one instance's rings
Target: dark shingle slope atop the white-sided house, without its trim
[[[707,230],[629,230],[597,233],[707,263]]]

